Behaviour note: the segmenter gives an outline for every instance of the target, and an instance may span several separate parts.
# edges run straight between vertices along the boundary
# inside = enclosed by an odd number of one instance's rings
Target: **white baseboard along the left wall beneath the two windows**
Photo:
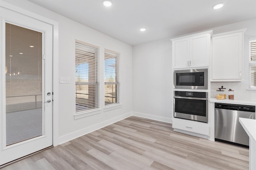
[[[126,119],[127,117],[130,117],[130,116],[132,116],[132,112],[126,113],[126,114],[118,116],[118,117],[114,117],[114,118],[109,119],[107,121],[98,123],[96,125],[92,125],[90,127],[86,127],[84,129],[81,129],[81,130],[77,130],[76,132],[72,132],[70,134],[66,134],[64,136],[60,136],[59,139],[58,139],[58,141],[59,141],[58,144],[63,144],[65,142],[68,142],[70,140],[73,140],[75,138],[83,136],[85,134],[88,134],[88,133],[93,132],[95,130],[98,130],[100,128],[106,127],[108,125],[111,125],[111,124],[116,123],[118,121],[121,121],[123,119]]]

